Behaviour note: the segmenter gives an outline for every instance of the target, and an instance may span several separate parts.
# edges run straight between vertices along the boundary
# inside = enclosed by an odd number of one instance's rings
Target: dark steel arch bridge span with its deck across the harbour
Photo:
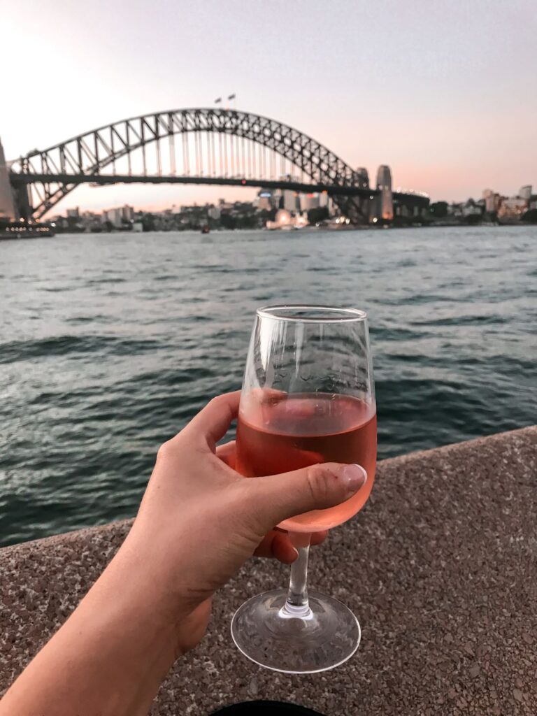
[[[19,214],[42,218],[81,183],[198,183],[325,191],[367,223],[369,189],[320,142],[282,122],[225,109],[121,120],[10,163]]]

